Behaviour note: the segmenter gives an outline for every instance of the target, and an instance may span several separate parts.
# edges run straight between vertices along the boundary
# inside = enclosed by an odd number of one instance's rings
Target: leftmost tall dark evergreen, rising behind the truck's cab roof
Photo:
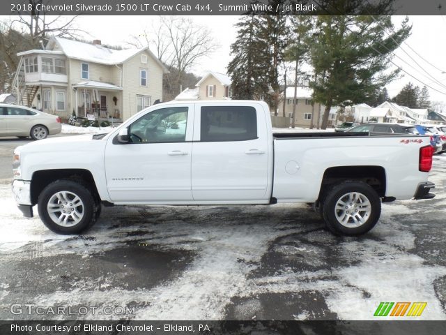
[[[260,99],[268,95],[268,48],[260,38],[261,17],[248,15],[240,19],[237,39],[231,45],[233,59],[228,73],[232,80],[234,99]]]

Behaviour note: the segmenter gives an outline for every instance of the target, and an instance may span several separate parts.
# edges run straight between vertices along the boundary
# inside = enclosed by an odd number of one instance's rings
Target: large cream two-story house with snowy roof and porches
[[[128,119],[162,101],[162,77],[169,72],[147,47],[114,50],[100,40],[52,37],[45,50],[17,56],[17,103],[63,118],[100,111],[100,117]]]

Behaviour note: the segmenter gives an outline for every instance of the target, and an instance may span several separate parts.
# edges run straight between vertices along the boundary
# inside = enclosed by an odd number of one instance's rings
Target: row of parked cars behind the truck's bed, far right
[[[371,122],[369,124],[355,124],[355,122],[344,122],[335,131],[367,132],[374,135],[429,135],[434,154],[443,154],[446,151],[446,126],[433,124],[390,124]]]

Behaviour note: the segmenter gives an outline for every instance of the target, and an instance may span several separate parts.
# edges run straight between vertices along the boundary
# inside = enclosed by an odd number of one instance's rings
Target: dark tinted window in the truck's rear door
[[[254,107],[201,107],[201,141],[246,141],[255,138],[257,117]]]

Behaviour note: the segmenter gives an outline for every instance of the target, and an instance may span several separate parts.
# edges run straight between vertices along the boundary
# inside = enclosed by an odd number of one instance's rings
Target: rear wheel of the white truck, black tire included
[[[357,236],[374,228],[381,214],[381,200],[368,184],[344,181],[324,194],[322,214],[334,234]]]

